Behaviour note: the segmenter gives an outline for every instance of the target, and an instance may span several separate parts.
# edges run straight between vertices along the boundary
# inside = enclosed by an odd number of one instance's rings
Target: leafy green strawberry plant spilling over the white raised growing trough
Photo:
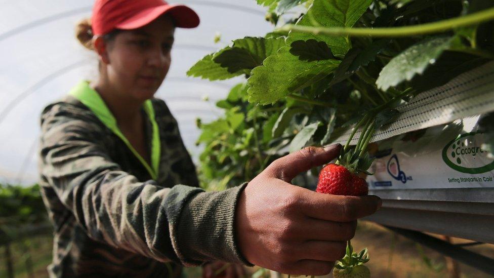
[[[188,71],[211,81],[246,78],[217,103],[225,116],[200,126],[204,184],[238,185],[278,156],[330,144],[349,129],[344,152],[325,169],[372,174],[368,147],[375,131],[398,115],[398,105],[494,59],[492,0],[257,3],[266,7],[272,32],[236,39]],[[322,180],[329,179],[326,170]],[[304,177],[307,184],[317,173]]]

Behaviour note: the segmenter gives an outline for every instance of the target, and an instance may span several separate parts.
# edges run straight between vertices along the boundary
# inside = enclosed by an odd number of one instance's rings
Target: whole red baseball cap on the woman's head
[[[175,19],[177,27],[199,25],[199,16],[191,8],[162,0],[96,0],[91,25],[94,35],[104,35],[114,29],[140,28],[163,14]]]

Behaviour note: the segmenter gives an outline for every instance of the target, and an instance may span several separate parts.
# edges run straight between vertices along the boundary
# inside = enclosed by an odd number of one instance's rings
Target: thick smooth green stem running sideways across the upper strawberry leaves
[[[432,23],[390,27],[390,28],[349,28],[349,27],[309,27],[302,25],[284,25],[278,30],[297,31],[313,34],[325,34],[333,36],[375,36],[375,37],[404,37],[411,35],[424,35],[430,33],[439,33],[458,27],[477,25],[479,23],[494,19],[494,8],[486,9],[481,12],[473,13],[466,16],[441,20]]]

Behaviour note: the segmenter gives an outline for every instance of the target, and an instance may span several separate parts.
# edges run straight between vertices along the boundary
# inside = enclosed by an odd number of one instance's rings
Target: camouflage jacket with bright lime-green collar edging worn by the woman
[[[151,165],[88,82],[42,112],[39,174],[55,229],[52,277],[166,277],[174,276],[169,266],[177,273],[206,261],[249,264],[233,229],[244,185],[198,188],[167,105],[148,100],[142,113]]]

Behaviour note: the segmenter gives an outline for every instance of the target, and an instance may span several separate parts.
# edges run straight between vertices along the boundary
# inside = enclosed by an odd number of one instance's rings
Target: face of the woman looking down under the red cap
[[[112,87],[136,101],[152,98],[170,68],[174,32],[171,18],[161,16],[139,29],[118,33],[108,45]]]

